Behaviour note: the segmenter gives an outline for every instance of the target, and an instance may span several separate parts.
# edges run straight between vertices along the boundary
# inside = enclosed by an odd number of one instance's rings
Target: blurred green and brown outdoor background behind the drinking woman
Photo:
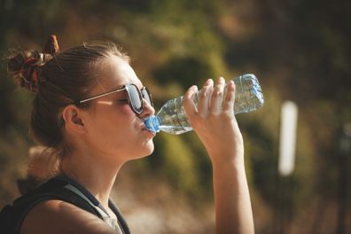
[[[207,78],[256,74],[265,105],[237,116],[256,233],[351,232],[351,2],[0,0],[0,207],[26,175],[33,96],[6,74],[9,49],[121,45],[156,110]],[[298,105],[295,166],[277,170],[281,105]],[[113,123],[112,123],[113,124]],[[133,233],[214,233],[212,171],[193,132],[160,133],[113,190]]]

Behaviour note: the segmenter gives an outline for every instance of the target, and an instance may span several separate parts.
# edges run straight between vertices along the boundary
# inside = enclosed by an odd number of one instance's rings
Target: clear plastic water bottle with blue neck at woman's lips
[[[243,74],[233,79],[233,81],[236,85],[235,114],[253,112],[263,105],[261,86],[254,74]],[[198,100],[199,91],[194,97],[196,106],[198,106]],[[169,100],[160,108],[159,113],[145,119],[144,124],[146,129],[153,132],[162,130],[175,135],[192,130],[184,111],[183,96]]]

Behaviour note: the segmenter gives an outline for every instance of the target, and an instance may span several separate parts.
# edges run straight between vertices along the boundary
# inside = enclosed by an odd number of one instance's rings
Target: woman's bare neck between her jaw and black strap
[[[76,152],[62,161],[62,173],[82,184],[104,207],[123,162],[103,160],[92,152]]]

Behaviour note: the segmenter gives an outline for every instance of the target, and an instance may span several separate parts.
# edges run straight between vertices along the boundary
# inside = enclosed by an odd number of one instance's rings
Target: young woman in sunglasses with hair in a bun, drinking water
[[[54,185],[52,196],[25,209],[18,230],[129,233],[109,197],[120,168],[153,151],[155,133],[144,127],[144,119],[154,114],[151,95],[113,43],[60,52],[53,43],[52,48],[46,53],[20,51],[9,60],[9,74],[35,92],[30,133],[58,157],[57,178],[65,181],[64,191],[93,207],[95,214],[73,199],[55,197],[63,190]],[[215,83],[207,80],[198,108],[192,101],[198,88],[192,86],[184,107],[213,165],[216,232],[253,233],[243,138],[233,113],[235,84],[229,82],[223,97],[224,84],[222,77]]]

